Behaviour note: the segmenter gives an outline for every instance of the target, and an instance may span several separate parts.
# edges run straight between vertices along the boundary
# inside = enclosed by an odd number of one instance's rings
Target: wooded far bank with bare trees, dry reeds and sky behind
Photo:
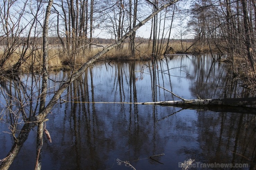
[[[49,43],[57,44],[51,53],[50,58],[56,60],[52,64],[62,67],[87,61],[108,44],[120,40],[165,2],[54,1],[49,18]],[[15,72],[23,67],[21,70],[27,71],[31,60],[40,61],[46,4],[47,1],[42,0],[3,0],[0,3],[0,70]],[[245,69],[255,72],[255,19],[255,0],[179,1],[149,21],[148,39],[134,32],[109,56],[149,59],[177,51],[220,53],[227,55],[234,68],[237,64],[246,64]],[[93,37],[97,30],[110,38]],[[186,39],[193,41],[188,43]],[[174,51],[170,51],[170,47],[174,47]]]

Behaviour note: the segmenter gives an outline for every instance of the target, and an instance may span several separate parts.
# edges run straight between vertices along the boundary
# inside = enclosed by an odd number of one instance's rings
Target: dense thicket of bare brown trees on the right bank
[[[255,1],[196,1],[192,7],[188,27],[199,47],[227,54],[235,75],[242,69],[255,77]]]

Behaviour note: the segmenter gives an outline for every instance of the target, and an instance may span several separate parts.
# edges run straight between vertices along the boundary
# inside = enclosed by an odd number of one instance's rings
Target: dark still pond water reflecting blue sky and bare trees
[[[68,76],[63,71],[51,73],[49,91],[59,86],[53,80]],[[29,75],[22,76],[21,81],[31,86]],[[52,143],[44,139],[42,169],[132,169],[124,163],[119,165],[117,159],[129,161],[136,170],[181,170],[179,164],[188,159],[194,160],[191,169],[223,169],[205,168],[221,163],[229,166],[226,169],[238,169],[230,167],[236,163],[245,166],[239,169],[255,168],[254,109],[134,104],[179,100],[156,85],[185,99],[249,96],[225,64],[213,62],[209,56],[95,64],[63,93],[67,102],[60,100],[47,117]],[[15,94],[9,86],[1,82],[2,89]],[[4,110],[2,96],[0,100]],[[8,124],[0,121],[0,159],[12,145],[7,132]],[[35,148],[36,129],[30,132],[10,169],[34,169]],[[159,154],[163,155],[152,157]]]

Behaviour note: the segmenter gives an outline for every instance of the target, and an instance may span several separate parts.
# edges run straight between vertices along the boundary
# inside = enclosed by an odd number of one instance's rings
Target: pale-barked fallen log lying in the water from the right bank
[[[165,106],[248,106],[248,105],[256,105],[256,97],[158,101],[158,102],[144,102],[142,104],[156,104],[156,105],[165,105]]]

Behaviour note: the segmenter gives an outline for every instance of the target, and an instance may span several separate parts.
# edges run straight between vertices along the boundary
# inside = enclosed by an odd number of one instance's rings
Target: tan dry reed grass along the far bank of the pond
[[[182,52],[186,50],[192,42],[183,42],[183,49],[181,47],[180,41],[175,41],[170,43],[170,47],[173,48],[172,53],[176,52]],[[61,68],[64,69],[71,69],[73,66],[75,68],[81,66],[81,64],[88,61],[90,58],[92,58],[95,54],[97,54],[99,51],[103,49],[103,47],[106,47],[107,44],[101,44],[101,46],[92,46],[91,49],[89,48],[79,48],[75,52],[64,52],[61,45],[55,45],[55,46],[49,46],[49,61],[48,61],[48,67],[50,70],[58,70]],[[166,46],[163,46],[162,49],[160,49],[160,45],[158,47],[158,51],[161,51],[161,55],[164,53]],[[196,50],[195,48],[189,49],[187,52],[194,52]],[[198,49],[197,49],[198,50]],[[204,51],[207,51],[208,49],[204,49]],[[202,49],[199,49],[199,51],[202,51]],[[1,57],[3,57],[3,51],[0,51]],[[11,67],[17,63],[17,61],[20,59],[21,56],[21,49],[18,48],[7,60],[6,64],[2,68],[2,70],[9,70]],[[114,48],[110,50],[107,54],[105,54],[101,60],[149,60],[152,57],[152,43],[148,44],[147,42],[144,43],[136,43],[136,56],[131,56],[129,44],[124,43],[122,44],[122,48]],[[27,54],[25,56],[26,61],[22,63],[21,71],[22,72],[29,72],[32,69],[32,63],[33,69],[35,71],[39,71],[42,68],[42,49],[38,49],[36,51],[27,51]]]

